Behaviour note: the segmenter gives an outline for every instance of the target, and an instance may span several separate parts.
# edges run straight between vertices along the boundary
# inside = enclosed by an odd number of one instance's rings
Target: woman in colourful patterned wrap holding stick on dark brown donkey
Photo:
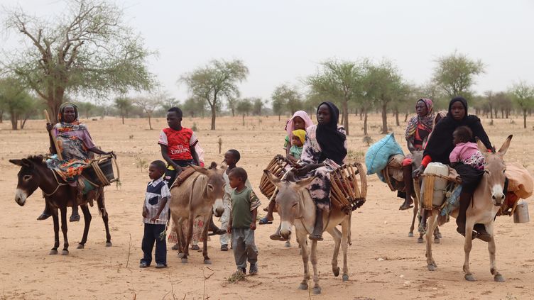
[[[113,152],[104,152],[97,148],[87,126],[79,121],[78,109],[75,104],[65,102],[60,106],[58,113],[58,123],[54,126],[50,123],[46,124],[46,130],[50,135],[50,152],[57,154],[58,151],[62,155],[62,160],[58,157],[52,157],[47,160],[49,169],[58,173],[65,182],[72,187],[77,187],[77,179],[82,174],[87,165],[89,165],[89,152],[100,155],[109,155]],[[55,148],[52,136],[58,143],[59,149]],[[81,198],[82,190],[79,187],[78,197]],[[45,210],[37,218],[44,220],[50,217],[51,211],[48,204],[45,205]],[[78,214],[77,203],[72,204],[72,216],[69,221],[80,221],[80,214]]]

